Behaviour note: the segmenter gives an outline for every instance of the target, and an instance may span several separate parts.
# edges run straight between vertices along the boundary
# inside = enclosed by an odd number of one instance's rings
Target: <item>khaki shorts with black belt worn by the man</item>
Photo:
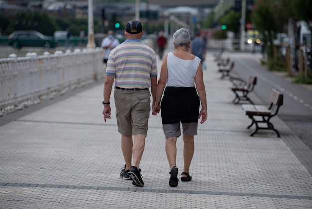
[[[150,117],[149,89],[126,91],[115,89],[117,130],[124,136],[147,135]]]

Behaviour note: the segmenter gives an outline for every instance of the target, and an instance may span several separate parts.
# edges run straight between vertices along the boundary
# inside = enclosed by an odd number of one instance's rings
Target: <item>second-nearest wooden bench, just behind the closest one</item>
[[[240,78],[235,78],[232,76],[230,76],[230,81],[233,83],[231,90],[235,94],[235,98],[232,103],[238,104],[239,101],[244,100],[254,104],[253,101],[248,97],[248,94],[254,90],[254,87],[257,84],[256,76],[249,76],[248,83]]]

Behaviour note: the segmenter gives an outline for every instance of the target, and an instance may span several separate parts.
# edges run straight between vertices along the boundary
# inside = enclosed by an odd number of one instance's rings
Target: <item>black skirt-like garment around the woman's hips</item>
[[[166,87],[161,101],[162,124],[198,122],[199,106],[195,87]]]

